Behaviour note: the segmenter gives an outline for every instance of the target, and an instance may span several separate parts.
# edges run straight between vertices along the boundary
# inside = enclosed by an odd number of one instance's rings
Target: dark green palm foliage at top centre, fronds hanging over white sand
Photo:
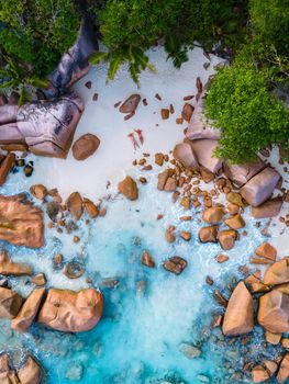
[[[109,79],[114,69],[129,63],[132,78],[138,82],[141,70],[149,66],[145,52],[160,37],[177,68],[187,61],[187,47],[196,39],[208,49],[216,42],[220,50],[235,48],[244,39],[244,4],[241,0],[108,0],[105,5],[95,5],[109,49],[102,58],[112,64]]]

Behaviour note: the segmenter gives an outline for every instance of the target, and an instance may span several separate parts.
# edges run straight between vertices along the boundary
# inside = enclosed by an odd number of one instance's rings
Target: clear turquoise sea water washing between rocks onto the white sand
[[[21,192],[35,182],[33,178],[15,174],[1,193]],[[192,222],[180,223],[182,208],[171,206],[171,195],[156,191],[155,185],[156,176],[152,174],[149,184],[141,188],[138,201],[118,197],[107,204],[104,218],[87,225],[84,217],[71,235],[46,229],[42,250],[3,245],[14,260],[30,262],[35,272],[44,271],[47,286],[77,290],[87,286],[85,278],[89,276],[103,293],[104,313],[93,330],[78,335],[52,331],[35,324],[22,336],[1,320],[1,351],[9,349],[15,357],[31,351],[43,364],[47,384],[249,383],[237,375],[243,364],[248,359],[274,357],[277,351],[263,348],[263,331],[257,327],[246,346],[238,340],[229,346],[220,329],[211,330],[212,313],[220,313],[221,308],[204,280],[210,274],[215,287],[229,297],[227,284],[242,276],[238,266],[248,261],[264,238],[246,214],[249,236],[242,237],[226,252],[230,256],[226,263],[218,264],[214,257],[221,251],[219,245],[202,245],[198,240],[201,208],[191,210]],[[163,221],[156,221],[159,213],[164,214]],[[191,241],[178,239],[168,245],[164,233],[169,224],[177,225],[178,230],[191,230]],[[79,245],[73,244],[74,235],[80,236]],[[151,251],[156,269],[142,266],[144,249]],[[64,255],[65,261],[74,258],[84,261],[85,278],[68,281],[62,271],[53,270],[52,258],[57,252]],[[188,261],[181,275],[162,267],[165,258],[176,255]],[[110,287],[111,281],[118,283]],[[12,279],[11,283],[23,295],[32,289],[26,278]],[[188,359],[180,351],[181,343],[199,348],[200,357]]]

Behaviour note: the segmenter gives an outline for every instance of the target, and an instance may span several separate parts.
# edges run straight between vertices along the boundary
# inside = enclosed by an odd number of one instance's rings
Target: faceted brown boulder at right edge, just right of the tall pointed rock
[[[259,298],[258,323],[273,334],[289,331],[289,296],[271,291]]]

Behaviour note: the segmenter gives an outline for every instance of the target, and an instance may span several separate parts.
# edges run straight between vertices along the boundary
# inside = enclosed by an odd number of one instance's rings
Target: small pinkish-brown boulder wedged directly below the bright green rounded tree
[[[227,161],[225,161],[224,174],[227,177],[227,179],[233,181],[234,184],[242,187],[265,167],[266,163],[259,158],[257,161],[247,162],[244,165],[230,165]]]

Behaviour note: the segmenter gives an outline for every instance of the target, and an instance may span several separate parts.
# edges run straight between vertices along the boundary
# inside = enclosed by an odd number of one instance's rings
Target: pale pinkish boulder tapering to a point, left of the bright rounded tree
[[[202,93],[197,102],[196,109],[186,129],[186,137],[190,140],[197,140],[200,138],[209,138],[218,140],[220,138],[220,131],[213,128],[208,120],[203,116],[204,93],[207,84],[203,88]]]

